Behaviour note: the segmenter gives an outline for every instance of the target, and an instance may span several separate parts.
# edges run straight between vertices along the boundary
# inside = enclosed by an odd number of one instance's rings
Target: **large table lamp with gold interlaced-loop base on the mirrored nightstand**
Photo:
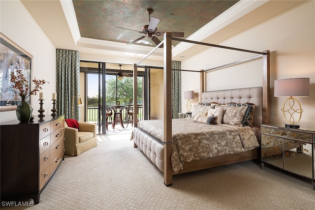
[[[285,127],[300,128],[297,123],[301,120],[303,109],[300,102],[295,97],[310,96],[310,78],[290,78],[283,80],[275,80],[275,97],[288,97],[284,101],[281,111],[284,120],[288,123]],[[294,116],[298,116],[295,120]]]

